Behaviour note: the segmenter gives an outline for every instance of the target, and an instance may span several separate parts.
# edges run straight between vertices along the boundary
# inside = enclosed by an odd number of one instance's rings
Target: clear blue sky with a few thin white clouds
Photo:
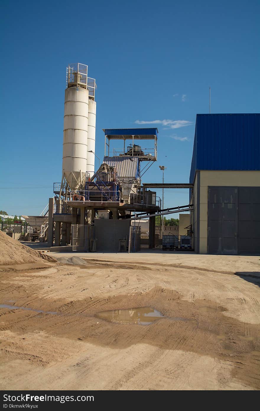
[[[70,62],[97,81],[100,159],[102,128],[158,127],[143,182],[161,182],[159,165],[166,182],[189,181],[209,85],[212,113],[259,112],[257,0],[3,1],[1,15],[0,209],[10,214],[38,215],[61,179]],[[188,190],[165,190],[166,207],[187,201]]]

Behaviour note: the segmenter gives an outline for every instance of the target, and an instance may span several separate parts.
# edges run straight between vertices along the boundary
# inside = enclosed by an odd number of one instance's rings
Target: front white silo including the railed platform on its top
[[[94,79],[90,79],[91,81]],[[76,63],[67,67],[64,104],[62,178],[71,190],[83,189],[87,172],[88,107],[94,99],[92,83],[88,86],[87,66]],[[92,148],[90,148],[92,150]],[[94,152],[95,148],[93,149]]]

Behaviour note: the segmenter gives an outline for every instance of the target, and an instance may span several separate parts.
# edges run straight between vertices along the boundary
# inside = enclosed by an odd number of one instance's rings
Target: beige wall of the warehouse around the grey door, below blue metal
[[[207,204],[208,204],[208,187],[209,186],[223,186],[223,187],[259,187],[260,186],[260,171],[200,171],[199,183],[199,252],[200,254],[207,254]],[[196,180],[198,178],[198,171],[194,183],[194,249],[196,252],[195,235],[197,233],[196,216],[198,212],[195,207],[198,207],[198,187]],[[196,194],[195,194],[196,192]]]

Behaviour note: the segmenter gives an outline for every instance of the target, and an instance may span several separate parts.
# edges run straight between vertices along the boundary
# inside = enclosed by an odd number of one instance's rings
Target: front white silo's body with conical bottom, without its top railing
[[[71,190],[85,183],[87,171],[89,92],[83,87],[65,90],[62,173]],[[93,150],[94,151],[94,150]]]

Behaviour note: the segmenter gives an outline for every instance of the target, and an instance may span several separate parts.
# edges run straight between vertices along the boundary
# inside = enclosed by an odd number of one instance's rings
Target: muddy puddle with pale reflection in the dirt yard
[[[163,318],[163,315],[151,307],[141,307],[101,311],[95,314],[95,317],[110,321],[111,323],[139,324],[141,326],[148,326],[154,321]]]

